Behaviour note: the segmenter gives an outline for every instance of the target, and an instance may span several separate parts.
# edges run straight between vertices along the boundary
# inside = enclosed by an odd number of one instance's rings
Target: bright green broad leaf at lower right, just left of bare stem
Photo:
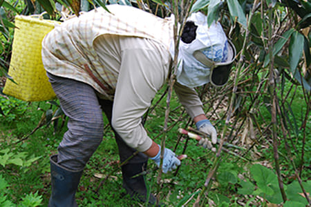
[[[273,195],[274,190],[272,190],[270,186],[272,186],[272,184],[277,184],[277,177],[274,172],[260,164],[255,164],[249,170],[252,173],[258,188],[261,188],[262,192],[266,195]]]

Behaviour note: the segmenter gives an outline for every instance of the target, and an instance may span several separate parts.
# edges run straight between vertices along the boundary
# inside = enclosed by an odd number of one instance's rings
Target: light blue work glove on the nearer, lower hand
[[[156,157],[150,157],[151,160],[156,162],[156,165],[160,167],[160,155],[161,155],[161,146],[159,145],[160,150]],[[175,170],[177,166],[180,166],[180,160],[176,157],[175,153],[168,148],[164,149],[162,172],[167,173],[168,171]]]

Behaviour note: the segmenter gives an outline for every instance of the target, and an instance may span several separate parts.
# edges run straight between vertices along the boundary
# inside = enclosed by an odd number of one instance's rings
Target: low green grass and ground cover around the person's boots
[[[160,98],[160,93],[156,96],[154,102]],[[14,204],[21,204],[27,195],[41,197],[41,206],[47,206],[50,197],[50,165],[49,157],[57,152],[57,146],[62,140],[62,135],[66,131],[66,123],[63,128],[59,128],[55,132],[53,124],[39,128],[33,135],[28,137],[25,141],[16,143],[25,135],[28,135],[39,123],[44,110],[50,108],[55,109],[55,106],[42,102],[25,103],[10,97],[4,100],[1,98],[1,106],[5,116],[1,116],[0,120],[0,148],[10,149],[12,156],[10,161],[5,165],[0,165],[0,175],[8,182],[9,186],[6,188],[6,200]],[[147,119],[145,127],[150,135],[157,143],[160,143],[162,135],[162,126],[164,123],[164,106],[165,101],[162,100],[159,106],[153,110]],[[299,99],[294,99],[292,107],[295,114],[301,112],[299,108]],[[176,109],[178,105],[176,96],[173,95],[171,108]],[[3,106],[7,106],[6,108]],[[42,110],[38,110],[41,108]],[[305,110],[305,109],[303,109]],[[169,126],[173,126],[167,132],[166,146],[168,148],[176,147],[176,140],[179,137],[177,132],[179,127],[185,127],[187,117],[181,121],[178,120],[182,112],[182,108],[177,108],[171,113],[169,117]],[[267,110],[261,110],[263,117],[269,118]],[[11,116],[11,115],[15,116]],[[214,119],[214,118],[213,118]],[[105,124],[108,123],[104,118]],[[298,119],[298,121],[301,121]],[[60,126],[62,122],[58,124]],[[218,124],[218,132],[223,123]],[[300,122],[299,122],[300,124]],[[310,128],[310,126],[309,126]],[[310,140],[310,137],[307,137]],[[268,140],[262,139],[261,145],[256,145],[244,157],[250,161],[245,161],[234,155],[222,152],[220,166],[213,179],[213,185],[209,191],[208,198],[201,198],[204,200],[205,206],[207,204],[214,204],[215,206],[247,206],[247,202],[251,206],[261,206],[265,204],[262,193],[241,194],[245,192],[243,181],[251,181],[251,184],[256,185],[256,177],[249,172],[249,168],[255,163],[263,164],[273,169],[273,152],[272,147],[267,145]],[[281,141],[279,150],[285,154],[283,149],[284,144]],[[180,155],[184,150],[185,144],[187,148],[185,154],[188,158],[182,161],[182,165],[178,168],[178,172],[171,172],[162,175],[162,184],[160,190],[160,199],[167,206],[192,206],[197,197],[197,193],[204,186],[205,179],[214,161],[215,154],[209,150],[198,146],[194,139],[185,139],[183,137],[180,144],[176,148],[176,154]],[[296,145],[301,148],[301,137]],[[305,162],[310,164],[310,144],[305,147],[306,156]],[[235,150],[238,152],[238,150]],[[309,154],[309,155],[307,155]],[[0,151],[0,161],[4,153]],[[300,154],[298,154],[300,155]],[[2,158],[1,158],[2,156]],[[20,158],[23,165],[17,164],[16,158]],[[13,161],[12,161],[13,160]],[[15,161],[14,161],[15,160]],[[35,161],[32,161],[35,160]],[[137,201],[133,201],[129,196],[125,195],[125,190],[122,188],[122,175],[118,167],[117,144],[113,137],[110,127],[105,129],[104,139],[97,148],[93,157],[86,165],[82,179],[77,191],[77,204],[79,206],[139,206]],[[293,175],[292,168],[284,157],[280,157],[283,163],[283,174],[285,175],[285,184],[290,184],[293,180],[290,178]],[[26,166],[27,161],[32,161],[30,166]],[[286,169],[288,168],[288,169]],[[100,181],[115,170],[95,193]],[[151,192],[156,193],[158,184],[156,183],[158,177],[158,170],[152,161],[149,161],[149,169],[152,169],[146,175],[146,181]],[[275,175],[275,174],[274,174]],[[268,176],[268,175],[267,175]],[[303,171],[302,177],[309,177],[308,171]],[[1,184],[1,181],[0,181]],[[1,186],[1,185],[0,185]],[[257,186],[258,188],[258,186]],[[244,190],[244,191],[243,191]],[[1,194],[0,194],[1,196]],[[190,199],[193,197],[192,199]],[[189,202],[187,203],[187,200]],[[212,200],[212,201],[211,201]],[[187,203],[187,204],[186,204]],[[1,200],[0,200],[1,204]],[[31,205],[30,205],[31,206]],[[32,205],[35,206],[35,205]]]

